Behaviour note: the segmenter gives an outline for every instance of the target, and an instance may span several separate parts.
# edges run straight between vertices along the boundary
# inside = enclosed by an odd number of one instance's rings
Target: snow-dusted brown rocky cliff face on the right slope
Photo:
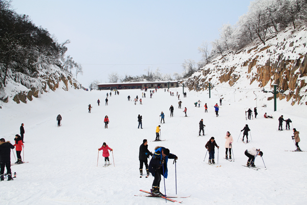
[[[272,90],[277,84],[279,99],[291,105],[306,104],[307,29],[291,29],[267,40],[266,45],[250,45],[236,53],[216,57],[211,64],[194,73],[184,83],[189,90],[215,88]],[[270,95],[270,94],[267,94]],[[271,94],[272,96],[272,94]],[[272,97],[267,97],[268,100]]]

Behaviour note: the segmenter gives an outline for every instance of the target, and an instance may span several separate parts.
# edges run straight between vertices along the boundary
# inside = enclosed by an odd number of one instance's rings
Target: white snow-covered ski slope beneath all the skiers
[[[182,88],[171,91],[181,94],[182,108],[187,107],[188,117],[184,117],[183,109],[178,109],[177,97],[169,96],[161,89],[152,99],[148,90],[143,105],[139,101],[137,105],[127,101],[128,95],[133,99],[136,95],[141,97],[140,90],[120,90],[119,95],[113,92],[112,97],[108,97],[108,106],[104,105],[107,91],[83,90],[45,93],[28,104],[17,105],[12,100],[2,103],[1,137],[13,143],[14,135],[19,134],[19,127],[24,123],[24,153],[25,161],[29,163],[12,166],[17,178],[0,183],[0,204],[164,204],[165,200],[161,198],[135,196],[146,195],[139,190],[149,191],[153,181],[152,176],[139,178],[139,147],[145,138],[150,151],[153,152],[156,146],[164,146],[179,157],[177,195],[191,195],[180,199],[185,204],[307,203],[307,152],[285,152],[295,149],[291,139],[293,132],[276,131],[281,114],[284,119],[291,118],[293,126],[300,132],[299,146],[307,150],[305,106],[291,107],[285,100],[278,100],[278,111],[273,113],[273,100],[264,99],[257,102],[257,118],[246,120],[244,111],[255,107],[253,93],[238,92],[235,102],[233,92],[227,94],[225,91],[220,116],[216,117],[213,108],[219,99],[216,93],[212,92],[209,99],[207,91],[191,91],[187,92],[187,98],[183,98]],[[99,107],[98,98],[102,102]],[[193,103],[199,99],[201,108],[196,108]],[[208,113],[204,112],[205,103],[209,107]],[[91,114],[87,110],[89,104],[93,106]],[[268,107],[261,108],[263,104]],[[174,106],[173,118],[169,117],[170,105]],[[152,142],[161,111],[166,114],[165,124],[161,125],[161,137],[166,141]],[[265,119],[265,112],[273,114],[274,119]],[[63,118],[60,128],[56,126],[58,114]],[[143,116],[143,129],[137,128],[138,114]],[[104,129],[105,115],[110,120],[108,129]],[[202,118],[207,135],[198,137]],[[245,124],[251,129],[249,138],[252,137],[247,145],[240,140],[237,142]],[[223,159],[227,131],[234,138],[234,162]],[[207,164],[208,155],[204,161],[204,145],[211,136],[220,146],[219,151],[215,149],[215,160],[218,158],[218,165],[221,165],[218,168]],[[104,141],[114,149],[115,167],[103,167],[102,152],[96,167],[98,148]],[[244,151],[251,147],[264,152],[267,170],[260,157],[255,161],[260,170],[242,166],[247,162]],[[110,159],[113,163],[112,153]],[[13,153],[11,161],[15,162]],[[168,169],[166,193],[175,196],[172,160],[168,162]],[[163,185],[162,179],[164,193]]]

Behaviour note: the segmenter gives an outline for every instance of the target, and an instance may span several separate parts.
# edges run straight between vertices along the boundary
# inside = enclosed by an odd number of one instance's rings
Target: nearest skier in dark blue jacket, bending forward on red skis
[[[161,175],[167,178],[167,161],[168,159],[178,159],[174,154],[169,153],[169,149],[156,147],[155,153],[149,162],[148,170],[155,179],[152,182],[151,193],[157,196],[164,196],[160,192]]]

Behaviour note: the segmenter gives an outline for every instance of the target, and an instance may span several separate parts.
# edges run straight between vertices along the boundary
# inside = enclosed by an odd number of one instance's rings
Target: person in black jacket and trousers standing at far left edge
[[[4,138],[0,139],[0,179],[4,180],[4,168],[7,168],[8,181],[13,180],[11,172],[11,149],[15,147],[10,141],[5,141]]]

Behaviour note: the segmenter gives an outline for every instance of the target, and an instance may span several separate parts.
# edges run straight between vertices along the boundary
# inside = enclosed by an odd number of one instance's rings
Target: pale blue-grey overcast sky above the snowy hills
[[[182,73],[185,59],[201,59],[197,48],[218,38],[222,24],[234,25],[248,0],[79,1],[13,0],[19,14],[47,29],[67,55],[80,63],[78,81],[108,82],[108,74],[141,75],[145,69]],[[159,64],[159,65],[157,65]]]

